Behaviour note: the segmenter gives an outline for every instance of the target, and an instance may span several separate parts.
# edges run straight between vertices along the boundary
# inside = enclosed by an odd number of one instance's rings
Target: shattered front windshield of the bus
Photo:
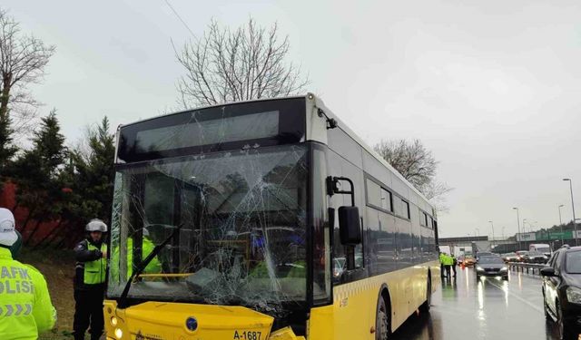
[[[118,169],[108,296],[120,296],[139,261],[182,226],[130,298],[270,315],[306,301],[306,159],[304,146],[285,145]]]

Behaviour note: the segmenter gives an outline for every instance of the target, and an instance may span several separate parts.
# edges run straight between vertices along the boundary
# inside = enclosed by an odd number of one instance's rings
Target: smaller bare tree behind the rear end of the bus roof
[[[438,209],[447,210],[444,195],[451,190],[436,180],[438,161],[419,140],[380,141],[373,148]]]

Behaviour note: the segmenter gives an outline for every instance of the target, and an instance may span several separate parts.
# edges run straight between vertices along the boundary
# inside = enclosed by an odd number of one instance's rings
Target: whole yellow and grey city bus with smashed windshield
[[[438,287],[436,214],[315,95],[117,131],[108,339],[388,339]]]

